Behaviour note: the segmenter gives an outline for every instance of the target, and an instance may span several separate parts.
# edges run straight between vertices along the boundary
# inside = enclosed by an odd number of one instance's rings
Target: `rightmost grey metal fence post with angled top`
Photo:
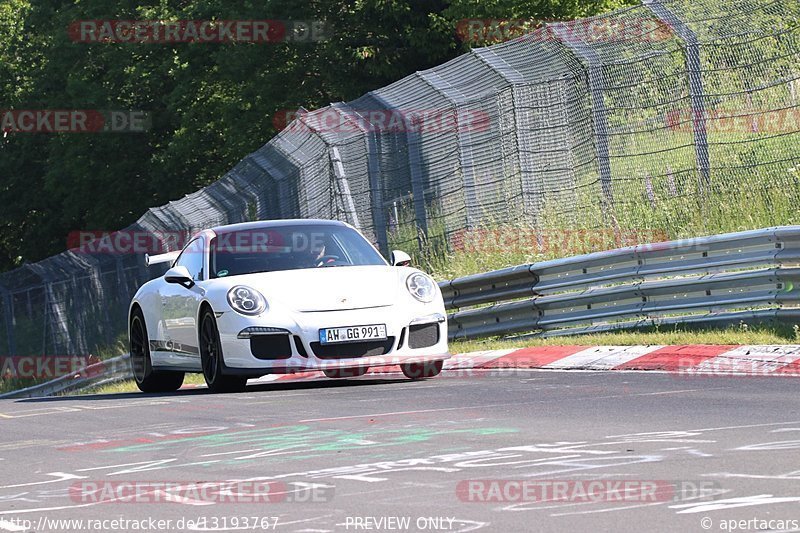
[[[692,132],[694,133],[697,170],[704,185],[711,183],[710,160],[708,157],[708,131],[706,129],[705,92],[700,64],[700,42],[697,34],[678,18],[659,0],[642,0],[653,15],[672,28],[675,34],[686,43],[686,75],[689,78],[689,97],[692,103]]]

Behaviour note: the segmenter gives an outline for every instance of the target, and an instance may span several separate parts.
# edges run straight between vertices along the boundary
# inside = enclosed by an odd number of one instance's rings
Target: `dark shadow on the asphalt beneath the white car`
[[[424,381],[424,380],[423,380]],[[420,381],[422,382],[422,381]],[[252,394],[257,392],[285,392],[308,389],[336,389],[344,387],[370,387],[375,385],[390,385],[394,383],[412,383],[405,378],[355,378],[355,379],[329,379],[313,381],[286,381],[282,383],[254,383],[248,385],[244,392],[236,393],[217,393],[220,396],[236,396],[242,394]],[[144,399],[144,398],[180,398],[184,396],[213,395],[205,386],[198,386],[191,389],[180,389],[175,392],[165,393],[144,393],[144,392],[118,392],[111,394],[72,394],[64,396],[52,396],[45,398],[20,398],[14,403],[49,403],[64,401],[98,401],[98,400],[123,400],[123,399]]]

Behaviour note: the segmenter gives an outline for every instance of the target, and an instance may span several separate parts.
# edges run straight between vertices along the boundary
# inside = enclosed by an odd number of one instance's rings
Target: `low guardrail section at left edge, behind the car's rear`
[[[96,387],[131,377],[128,354],[105,359],[76,372],[71,372],[46,383],[0,394],[3,398],[40,398],[65,392],[75,392],[86,387]]]

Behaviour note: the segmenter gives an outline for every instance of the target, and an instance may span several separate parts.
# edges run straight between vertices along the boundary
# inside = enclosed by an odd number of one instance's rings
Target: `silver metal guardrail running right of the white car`
[[[439,284],[450,339],[800,319],[800,226],[642,244]],[[489,304],[489,305],[487,305]]]

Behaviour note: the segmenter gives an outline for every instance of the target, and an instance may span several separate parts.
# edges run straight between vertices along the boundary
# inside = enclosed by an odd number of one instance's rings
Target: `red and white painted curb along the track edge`
[[[444,362],[443,375],[507,369],[656,371],[707,377],[800,377],[800,345],[536,346],[488,350],[454,355]],[[371,368],[367,376],[399,372],[400,368],[394,365]],[[298,372],[264,376],[250,383],[320,378],[324,378],[322,372]]]

